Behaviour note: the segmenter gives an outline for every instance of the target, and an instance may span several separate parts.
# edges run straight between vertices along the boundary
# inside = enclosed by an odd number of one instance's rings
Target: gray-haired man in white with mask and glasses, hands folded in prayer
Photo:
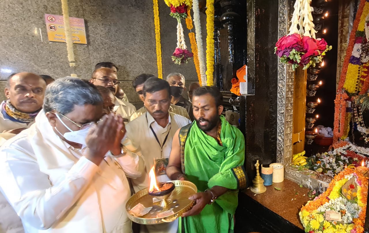
[[[129,139],[121,144],[123,119],[100,119],[102,109],[95,87],[56,80],[35,124],[1,147],[1,192],[25,232],[131,232],[127,176],[140,177],[145,164]]]

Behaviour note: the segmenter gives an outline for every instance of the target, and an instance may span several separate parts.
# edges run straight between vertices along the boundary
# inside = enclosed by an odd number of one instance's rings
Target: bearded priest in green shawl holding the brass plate
[[[193,208],[179,221],[181,233],[226,233],[234,230],[238,189],[246,187],[245,139],[223,117],[222,94],[204,86],[193,92],[192,124],[177,130],[166,174],[189,180],[198,193]]]

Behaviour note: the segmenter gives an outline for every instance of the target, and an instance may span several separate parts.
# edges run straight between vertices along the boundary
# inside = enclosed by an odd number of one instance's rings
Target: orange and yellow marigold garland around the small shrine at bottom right
[[[301,208],[301,211],[299,213],[300,220],[305,228],[305,231],[312,233],[330,233],[330,232],[362,233],[364,230],[363,226],[366,215],[365,206],[368,195],[368,177],[365,177],[364,175],[367,171],[368,168],[366,167],[345,168],[344,171],[342,171],[341,173],[337,174],[334,177],[334,179],[328,186],[327,191],[325,191],[320,196],[316,197],[313,201],[308,201],[307,204]],[[358,217],[357,218],[353,217],[352,223],[346,222],[344,224],[335,221],[331,222],[325,220],[324,213],[318,212],[318,209],[321,208],[327,202],[336,200],[337,198],[342,199],[341,187],[351,178],[355,179],[355,184],[357,187],[357,192],[355,195],[357,197],[357,205],[359,206]],[[336,201],[332,203],[336,203]],[[341,211],[342,215],[345,215],[344,211]]]

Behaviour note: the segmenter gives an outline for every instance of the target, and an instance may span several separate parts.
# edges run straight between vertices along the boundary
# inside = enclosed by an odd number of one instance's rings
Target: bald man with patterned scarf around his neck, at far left
[[[5,87],[7,100],[1,103],[0,145],[29,128],[44,103],[46,83],[34,73],[11,74]],[[23,232],[21,219],[0,193],[0,232]]]

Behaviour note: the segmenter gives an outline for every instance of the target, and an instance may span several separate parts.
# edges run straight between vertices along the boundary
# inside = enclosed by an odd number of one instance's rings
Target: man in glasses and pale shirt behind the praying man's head
[[[103,67],[97,70],[94,70],[92,73],[92,78],[90,79],[90,83],[107,87],[113,94],[115,93],[115,85],[120,83],[117,79],[117,74],[114,73],[114,70]],[[130,119],[130,116],[136,111],[136,108],[133,104],[126,102],[124,100],[120,100],[117,97],[115,98],[115,106],[113,111],[117,114],[120,114],[125,121]]]

